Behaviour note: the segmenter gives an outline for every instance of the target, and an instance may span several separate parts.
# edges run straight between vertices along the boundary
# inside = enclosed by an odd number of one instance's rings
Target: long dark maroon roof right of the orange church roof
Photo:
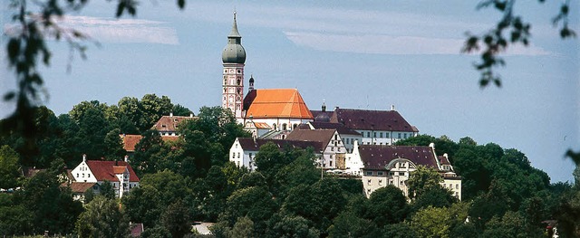
[[[334,109],[330,122],[349,129],[415,132],[396,110]]]

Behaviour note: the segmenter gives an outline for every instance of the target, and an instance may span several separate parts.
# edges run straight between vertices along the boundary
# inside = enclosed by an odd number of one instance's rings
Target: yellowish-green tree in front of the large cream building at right
[[[409,183],[409,197],[423,195],[430,189],[440,186],[443,178],[433,167],[418,166],[407,181]]]

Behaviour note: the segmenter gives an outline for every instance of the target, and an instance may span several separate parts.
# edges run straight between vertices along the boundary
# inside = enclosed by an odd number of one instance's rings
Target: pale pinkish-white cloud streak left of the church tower
[[[179,44],[176,30],[158,21],[66,16],[59,24],[88,34],[98,42]]]

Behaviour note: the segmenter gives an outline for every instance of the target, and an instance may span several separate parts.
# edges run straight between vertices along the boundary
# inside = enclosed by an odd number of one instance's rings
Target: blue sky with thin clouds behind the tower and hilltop
[[[560,2],[517,2],[516,14],[532,24],[531,44],[504,52],[501,88],[480,89],[478,55],[460,49],[466,33],[486,33],[500,14],[476,1],[188,1],[179,10],[176,1],[150,0],[121,19],[116,1],[91,1],[60,22],[91,36],[87,59],[50,41],[44,103],[59,115],[83,100],[111,105],[155,93],[195,112],[218,106],[221,51],[236,11],[246,81],[253,75],[256,89],[298,89],[310,109],[323,101],[328,109],[395,105],[420,134],[517,148],[552,182],[573,182],[564,153],[580,150],[580,42],[562,41],[551,23]],[[570,2],[569,24],[580,33],[580,5]],[[1,43],[4,94],[15,81],[5,35]],[[13,109],[0,102],[0,118]]]

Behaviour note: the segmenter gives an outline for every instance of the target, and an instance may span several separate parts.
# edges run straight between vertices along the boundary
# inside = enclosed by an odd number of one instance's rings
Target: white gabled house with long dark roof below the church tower
[[[250,171],[256,170],[256,154],[260,147],[267,143],[274,143],[278,148],[314,148],[314,154],[321,157],[324,150],[323,144],[317,141],[289,140],[289,139],[263,139],[263,138],[236,138],[229,148],[229,161],[237,167],[247,167]]]

